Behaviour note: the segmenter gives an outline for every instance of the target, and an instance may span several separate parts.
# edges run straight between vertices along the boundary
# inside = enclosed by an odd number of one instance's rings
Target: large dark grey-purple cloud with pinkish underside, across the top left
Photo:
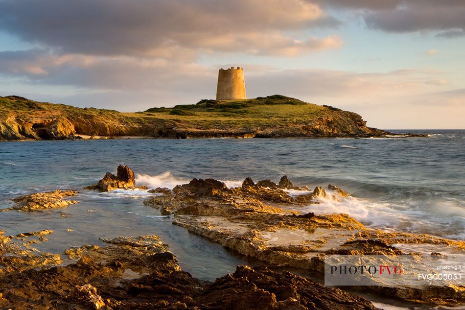
[[[61,53],[190,61],[198,52],[294,56],[341,39],[292,37],[337,24],[305,0],[2,0],[0,29]]]

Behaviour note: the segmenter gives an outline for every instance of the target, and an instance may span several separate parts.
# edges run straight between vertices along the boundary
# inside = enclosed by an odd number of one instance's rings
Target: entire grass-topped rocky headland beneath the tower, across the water
[[[360,115],[281,95],[239,101],[201,100],[145,112],[77,108],[0,97],[0,141],[80,138],[380,137]]]

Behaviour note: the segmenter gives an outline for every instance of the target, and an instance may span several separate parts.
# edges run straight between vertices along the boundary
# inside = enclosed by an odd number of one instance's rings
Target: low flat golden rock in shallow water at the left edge
[[[13,198],[16,204],[12,208],[1,209],[1,211],[40,211],[44,209],[64,208],[70,204],[77,203],[76,200],[64,198],[77,195],[77,191],[46,191],[37,192],[25,196]]]

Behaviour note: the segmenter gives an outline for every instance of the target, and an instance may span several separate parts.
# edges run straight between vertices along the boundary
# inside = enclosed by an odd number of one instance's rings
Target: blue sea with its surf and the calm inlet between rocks
[[[335,184],[352,193],[309,211],[344,212],[366,225],[465,238],[465,131],[427,131],[429,138],[101,140],[0,143],[0,203],[34,191],[80,189],[117,165],[139,185],[174,187],[212,177],[229,186],[250,176],[298,185]],[[184,269],[212,280],[253,263],[171,224],[142,200],[146,191],[81,191],[79,204],[42,213],[0,213],[5,234],[53,229],[41,250],[60,252],[98,238],[160,235]],[[88,212],[91,210],[92,212]],[[69,217],[61,217],[60,211]],[[73,229],[67,232],[67,228]]]

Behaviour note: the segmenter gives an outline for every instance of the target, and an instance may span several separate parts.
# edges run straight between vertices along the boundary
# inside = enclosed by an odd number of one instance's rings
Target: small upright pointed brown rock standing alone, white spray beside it
[[[133,190],[136,177],[134,171],[129,166],[119,165],[116,169],[116,175],[107,172],[105,176],[98,181],[97,185],[91,185],[88,189],[100,189],[101,191],[114,191],[117,189]]]

